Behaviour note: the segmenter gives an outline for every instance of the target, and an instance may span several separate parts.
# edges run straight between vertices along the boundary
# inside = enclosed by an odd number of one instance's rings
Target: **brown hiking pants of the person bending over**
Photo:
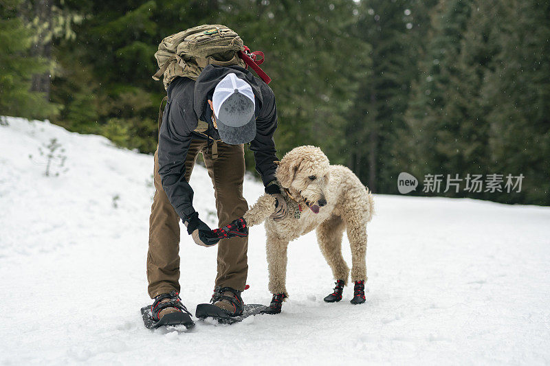
[[[245,159],[243,145],[229,145],[219,141],[218,157],[212,159],[212,149],[206,141],[192,140],[185,161],[185,179],[189,181],[199,152],[202,153],[208,175],[214,185],[219,227],[245,214],[248,209],[243,198]],[[149,251],[147,253],[148,293],[151,299],[171,290],[179,292],[179,217],[162,188],[158,173],[158,150],[155,152],[155,196],[149,218]],[[214,229],[214,228],[212,228]],[[189,236],[186,245],[195,245]],[[248,238],[220,240],[215,286],[232,287],[242,291],[248,274]],[[194,261],[186,258],[187,262]],[[192,281],[192,279],[186,279]]]

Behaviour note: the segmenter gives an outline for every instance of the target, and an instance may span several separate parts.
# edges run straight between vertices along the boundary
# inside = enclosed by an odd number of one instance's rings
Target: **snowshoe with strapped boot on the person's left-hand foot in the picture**
[[[161,314],[161,312],[164,312],[164,314]],[[184,325],[185,328],[190,329],[195,326],[191,319],[191,313],[184,304],[181,304],[181,297],[175,290],[158,295],[155,297],[153,305],[144,306],[142,308],[142,318],[147,329],[170,325]]]

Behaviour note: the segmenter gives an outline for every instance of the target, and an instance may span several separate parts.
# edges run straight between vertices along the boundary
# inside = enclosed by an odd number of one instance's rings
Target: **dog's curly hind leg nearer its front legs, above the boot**
[[[344,222],[340,216],[331,216],[317,227],[317,242],[322,255],[332,269],[334,279],[348,282],[349,267],[342,257]]]

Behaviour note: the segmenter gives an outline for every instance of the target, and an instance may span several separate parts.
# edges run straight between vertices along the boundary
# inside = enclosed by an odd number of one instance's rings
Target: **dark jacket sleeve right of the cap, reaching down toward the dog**
[[[278,160],[273,135],[277,129],[277,108],[275,95],[270,87],[265,86],[267,92],[263,95],[261,112],[256,118],[256,137],[250,142],[250,150],[254,152],[256,172],[262,177],[263,185],[275,179],[275,170]]]

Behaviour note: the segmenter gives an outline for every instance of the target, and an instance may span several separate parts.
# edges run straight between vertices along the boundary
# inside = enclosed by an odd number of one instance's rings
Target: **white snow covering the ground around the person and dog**
[[[278,315],[190,332],[146,330],[153,158],[47,122],[0,126],[0,365],[550,363],[550,208],[375,196],[366,304],[325,304],[333,279],[314,233],[291,243]],[[45,176],[39,148],[65,149]],[[32,157],[29,157],[32,155]],[[67,171],[64,171],[64,170]],[[214,225],[212,184],[192,174]],[[249,178],[249,203],[261,194]],[[269,303],[265,233],[250,236],[250,303]],[[351,259],[344,238],[344,258]],[[210,299],[216,249],[182,231],[184,304]],[[311,275],[313,273],[314,275]]]

